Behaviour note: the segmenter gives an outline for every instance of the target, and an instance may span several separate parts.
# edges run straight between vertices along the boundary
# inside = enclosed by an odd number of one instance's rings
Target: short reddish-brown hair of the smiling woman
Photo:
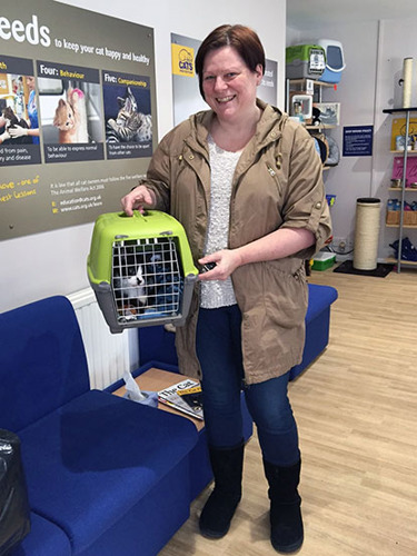
[[[260,63],[262,67],[262,75],[265,72],[265,51],[257,33],[245,26],[220,26],[206,37],[196,56],[196,73],[198,75],[202,98],[205,98],[202,90],[202,70],[206,56],[222,47],[232,47],[250,71],[256,71],[257,66]]]

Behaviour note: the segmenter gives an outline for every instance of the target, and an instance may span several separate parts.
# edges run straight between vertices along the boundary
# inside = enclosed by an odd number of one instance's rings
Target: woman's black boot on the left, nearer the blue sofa
[[[231,448],[209,446],[215,489],[200,515],[200,533],[205,537],[220,538],[229,530],[241,498],[244,448],[244,440]]]

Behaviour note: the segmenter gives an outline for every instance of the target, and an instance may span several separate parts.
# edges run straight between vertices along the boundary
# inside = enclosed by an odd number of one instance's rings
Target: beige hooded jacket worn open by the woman
[[[306,228],[316,245],[284,259],[241,266],[231,276],[242,314],[247,384],[280,376],[300,363],[308,302],[304,261],[331,234],[321,161],[311,137],[277,108],[257,102],[262,116],[235,171],[228,247],[280,227]],[[211,111],[199,112],[170,131],[141,181],[156,193],[156,208],[182,224],[196,262],[203,256],[209,212],[207,136],[212,117]],[[193,377],[201,376],[195,348],[198,290],[197,286],[186,326],[176,334],[180,371]]]

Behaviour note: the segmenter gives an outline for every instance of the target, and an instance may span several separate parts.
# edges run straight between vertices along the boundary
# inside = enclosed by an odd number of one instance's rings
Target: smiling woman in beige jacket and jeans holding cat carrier
[[[304,539],[297,426],[287,396],[301,360],[307,285],[304,260],[330,236],[321,162],[308,132],[256,97],[265,70],[258,36],[221,26],[196,58],[207,112],[158,146],[147,178],[123,197],[186,228],[199,276],[187,324],[177,329],[181,373],[201,379],[215,488],[202,535],[226,535],[241,497],[240,390],[257,425],[271,502],[271,543]]]

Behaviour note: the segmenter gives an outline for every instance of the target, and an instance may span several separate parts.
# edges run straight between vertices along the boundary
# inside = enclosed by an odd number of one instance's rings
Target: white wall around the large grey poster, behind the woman
[[[155,29],[158,132],[172,127],[170,33],[203,39],[221,23],[244,23],[262,40],[267,58],[278,61],[278,106],[284,107],[286,0],[63,0],[62,3],[126,19]],[[115,210],[119,210],[119,206]],[[42,297],[88,286],[86,260],[91,225],[0,242],[0,311]]]

